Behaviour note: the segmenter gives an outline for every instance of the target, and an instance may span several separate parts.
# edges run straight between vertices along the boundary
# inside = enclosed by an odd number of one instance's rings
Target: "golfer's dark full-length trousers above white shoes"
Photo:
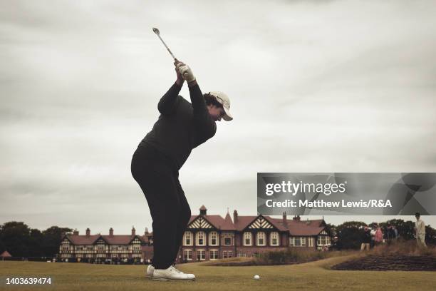
[[[179,172],[165,155],[148,145],[135,150],[131,171],[145,195],[153,220],[152,265],[166,269],[177,259],[191,218]]]

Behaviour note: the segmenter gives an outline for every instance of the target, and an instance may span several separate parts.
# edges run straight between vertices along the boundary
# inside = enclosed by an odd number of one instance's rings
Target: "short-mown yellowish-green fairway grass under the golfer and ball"
[[[146,265],[0,261],[0,277],[51,277],[51,287],[0,284],[0,290],[436,290],[436,272],[336,271],[350,259],[331,257],[299,265],[221,267],[207,262],[177,265],[197,276],[193,282],[146,279]],[[254,280],[254,275],[260,280]],[[47,289],[47,290],[48,290]]]

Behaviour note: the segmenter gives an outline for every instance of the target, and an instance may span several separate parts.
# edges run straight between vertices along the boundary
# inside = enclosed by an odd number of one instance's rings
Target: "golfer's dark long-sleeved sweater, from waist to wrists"
[[[157,104],[160,116],[139,144],[160,150],[173,161],[177,170],[182,168],[193,148],[217,132],[198,84],[190,87],[191,103],[178,95],[181,89],[182,86],[174,83],[160,98]]]

